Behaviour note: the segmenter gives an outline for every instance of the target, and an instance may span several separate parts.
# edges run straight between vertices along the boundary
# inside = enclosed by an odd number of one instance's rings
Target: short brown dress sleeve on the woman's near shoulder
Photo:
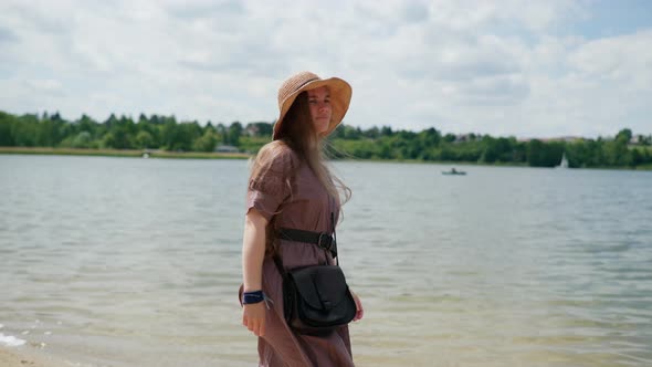
[[[249,180],[246,212],[255,208],[267,221],[271,220],[281,205],[290,198],[290,176],[295,164],[296,158],[290,149],[271,157],[259,175]]]

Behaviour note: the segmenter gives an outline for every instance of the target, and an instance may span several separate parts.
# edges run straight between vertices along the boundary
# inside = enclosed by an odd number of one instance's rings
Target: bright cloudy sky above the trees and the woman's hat
[[[0,1],[0,111],[273,122],[299,71],[345,124],[652,134],[652,1]]]

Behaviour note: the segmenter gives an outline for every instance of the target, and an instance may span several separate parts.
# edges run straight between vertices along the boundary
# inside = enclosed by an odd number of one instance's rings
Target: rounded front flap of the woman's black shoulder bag
[[[302,298],[313,308],[328,311],[345,300],[348,286],[339,266],[316,265],[290,271]]]

